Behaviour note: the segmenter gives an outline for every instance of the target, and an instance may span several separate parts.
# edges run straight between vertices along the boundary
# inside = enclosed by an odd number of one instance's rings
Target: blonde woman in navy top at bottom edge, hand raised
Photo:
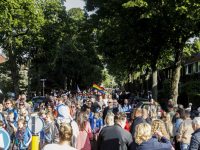
[[[159,142],[156,136],[151,136],[151,126],[148,123],[141,123],[135,129],[135,142],[131,145],[131,150],[169,150],[172,145],[160,131],[156,131],[155,135],[161,139]]]

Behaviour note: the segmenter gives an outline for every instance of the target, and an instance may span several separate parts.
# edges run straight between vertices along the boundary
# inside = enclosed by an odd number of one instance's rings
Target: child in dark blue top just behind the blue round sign
[[[15,132],[17,131],[17,122],[14,120],[13,111],[8,113],[8,120],[5,123],[6,123],[6,131],[10,135],[10,139],[11,139],[11,145],[10,145],[10,149],[11,149],[14,143],[14,139],[15,139]]]

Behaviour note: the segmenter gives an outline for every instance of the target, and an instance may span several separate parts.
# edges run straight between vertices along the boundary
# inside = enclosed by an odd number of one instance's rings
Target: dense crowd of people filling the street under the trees
[[[31,149],[30,117],[40,116],[41,150],[198,150],[200,109],[173,105],[172,100],[148,107],[130,103],[130,95],[97,91],[45,95],[39,106],[17,101],[0,103],[0,128],[11,138],[10,150]]]

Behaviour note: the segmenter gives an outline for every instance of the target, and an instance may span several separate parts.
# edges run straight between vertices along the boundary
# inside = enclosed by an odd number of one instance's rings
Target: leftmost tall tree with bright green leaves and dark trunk
[[[19,68],[16,57],[18,48],[23,44],[22,38],[31,30],[36,30],[43,24],[44,15],[41,3],[50,1],[35,0],[7,0],[0,2],[0,43],[4,52],[9,57],[9,65],[13,81],[14,92],[19,94]],[[23,55],[22,53],[20,55]],[[19,59],[21,60],[21,59]],[[17,62],[17,63],[16,63]]]

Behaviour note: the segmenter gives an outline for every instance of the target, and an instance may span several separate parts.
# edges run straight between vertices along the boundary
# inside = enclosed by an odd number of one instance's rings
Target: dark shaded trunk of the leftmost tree
[[[15,92],[15,96],[18,96],[19,82],[18,82],[18,77],[17,77],[17,64],[16,64],[16,59],[13,58],[11,39],[9,39],[8,55],[9,55],[9,65],[10,65],[10,70],[11,70],[11,77],[13,81],[14,92]]]

